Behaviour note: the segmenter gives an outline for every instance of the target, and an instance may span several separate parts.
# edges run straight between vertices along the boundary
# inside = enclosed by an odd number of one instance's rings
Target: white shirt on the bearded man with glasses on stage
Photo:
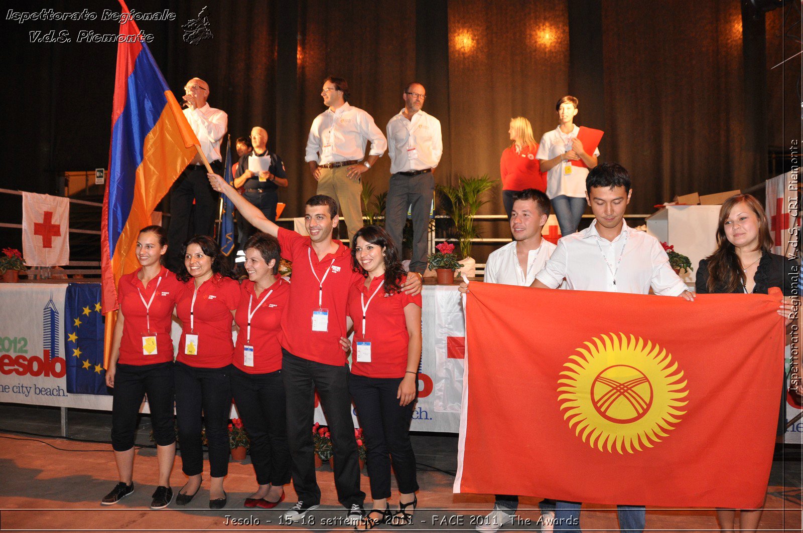
[[[443,155],[441,122],[418,111],[407,120],[404,108],[388,122],[390,173],[434,169]]]

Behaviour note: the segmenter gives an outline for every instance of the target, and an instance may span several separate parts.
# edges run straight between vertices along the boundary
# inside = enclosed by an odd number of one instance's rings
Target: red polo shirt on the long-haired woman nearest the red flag
[[[405,283],[406,278],[402,279]],[[352,340],[352,373],[368,377],[404,377],[407,370],[407,344],[409,336],[404,308],[408,303],[421,307],[421,295],[406,295],[404,292],[388,294],[383,288],[385,275],[371,281],[365,287],[365,278],[360,276],[349,289],[349,316],[354,323]],[[377,295],[369,299],[374,291]],[[362,299],[364,295],[368,310],[365,314],[365,336],[362,334]],[[357,361],[357,341],[371,342],[371,362]]]

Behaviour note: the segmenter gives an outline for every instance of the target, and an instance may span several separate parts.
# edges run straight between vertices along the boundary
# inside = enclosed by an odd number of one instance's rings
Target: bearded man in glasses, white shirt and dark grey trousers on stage
[[[426,235],[430,226],[435,178],[432,170],[443,154],[441,123],[422,111],[426,89],[421,83],[408,83],[402,93],[404,109],[389,120],[388,155],[390,184],[385,229],[388,230],[397,254],[402,257],[402,234],[407,211],[413,216],[413,256],[411,272],[426,270]]]

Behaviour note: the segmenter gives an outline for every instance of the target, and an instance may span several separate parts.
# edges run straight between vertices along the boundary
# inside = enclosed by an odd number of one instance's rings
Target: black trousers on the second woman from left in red
[[[209,470],[213,478],[229,472],[229,414],[231,365],[196,368],[176,363],[176,418],[181,470],[188,476],[203,472],[201,421],[206,425]]]

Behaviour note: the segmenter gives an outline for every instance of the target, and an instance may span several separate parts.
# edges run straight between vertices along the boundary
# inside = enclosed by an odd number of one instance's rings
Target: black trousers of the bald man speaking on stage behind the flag
[[[223,173],[220,161],[210,163],[217,174]],[[180,272],[184,265],[181,245],[193,235],[212,235],[218,215],[218,193],[214,192],[204,165],[190,165],[170,188],[170,224],[167,227],[167,266]],[[193,200],[195,205],[193,205]]]

